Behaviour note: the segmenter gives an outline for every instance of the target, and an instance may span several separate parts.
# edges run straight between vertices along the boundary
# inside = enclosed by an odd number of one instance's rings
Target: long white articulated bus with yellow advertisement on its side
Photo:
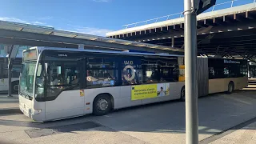
[[[23,51],[20,110],[34,121],[45,122],[103,115],[153,102],[184,101],[183,59],[171,54],[30,48]],[[206,70],[198,71],[203,71],[203,76],[210,74],[210,80],[207,76],[200,81],[209,82],[205,93],[232,92],[247,86],[246,61],[217,59],[215,64],[212,59],[208,73],[210,58],[201,59],[204,62],[198,61],[198,65]]]

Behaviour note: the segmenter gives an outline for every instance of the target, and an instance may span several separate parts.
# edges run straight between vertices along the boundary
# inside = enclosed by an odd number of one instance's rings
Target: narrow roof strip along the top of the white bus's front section
[[[85,49],[74,49],[74,48],[59,48],[59,47],[46,47],[46,46],[34,46],[28,50],[38,49],[39,53],[43,50],[66,50],[66,51],[83,51],[91,53],[104,53],[104,54],[132,54],[132,55],[151,55],[151,56],[164,56],[164,57],[184,57],[184,55],[178,54],[150,54],[150,53],[139,53],[139,52],[126,52],[126,51],[112,51],[112,50],[85,50]],[[23,50],[26,51],[26,50]]]

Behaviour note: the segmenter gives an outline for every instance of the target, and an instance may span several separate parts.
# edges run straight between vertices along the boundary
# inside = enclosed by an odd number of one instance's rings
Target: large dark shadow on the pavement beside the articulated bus
[[[248,120],[255,122],[255,92],[254,90],[237,90],[234,94],[211,94],[205,98],[199,98],[198,130],[199,134],[205,135],[203,139],[214,134],[222,134],[225,130],[241,129],[242,127],[238,125]],[[26,116],[20,115],[20,117]],[[82,122],[96,122],[110,128],[107,129],[109,131],[184,134],[185,138],[185,102],[161,102],[115,110],[114,113],[100,117],[87,115],[45,123],[31,122],[29,118],[27,121],[19,121],[0,116],[0,126],[22,126],[26,127],[26,130],[51,129],[54,126],[69,126]]]

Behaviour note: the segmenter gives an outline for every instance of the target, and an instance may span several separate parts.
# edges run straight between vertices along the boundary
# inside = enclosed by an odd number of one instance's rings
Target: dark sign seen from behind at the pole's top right
[[[211,6],[216,4],[216,0],[192,0],[192,7],[195,13],[201,14],[205,10],[208,10]]]

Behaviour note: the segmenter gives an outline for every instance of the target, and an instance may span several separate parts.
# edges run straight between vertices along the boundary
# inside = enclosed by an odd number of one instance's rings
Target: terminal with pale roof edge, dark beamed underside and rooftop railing
[[[244,4],[244,5],[242,5]],[[224,8],[224,9],[223,9]],[[221,9],[221,10],[219,10]],[[256,3],[230,1],[217,4],[198,15],[198,55],[228,58],[254,58],[256,54]],[[109,32],[108,38],[173,46],[184,50],[184,18],[170,14],[123,26]]]

